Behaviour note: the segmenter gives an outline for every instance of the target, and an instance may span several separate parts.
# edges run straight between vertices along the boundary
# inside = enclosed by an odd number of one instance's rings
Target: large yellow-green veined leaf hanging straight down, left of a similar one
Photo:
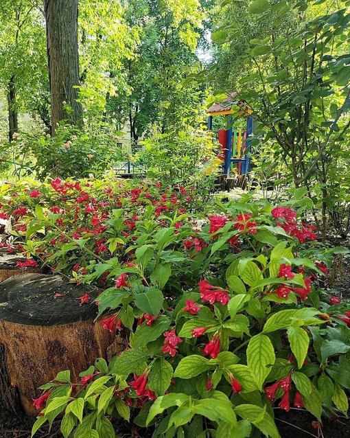
[[[262,384],[270,372],[270,365],[273,365],[276,360],[270,338],[264,334],[253,336],[249,341],[246,354],[248,368],[261,390]]]

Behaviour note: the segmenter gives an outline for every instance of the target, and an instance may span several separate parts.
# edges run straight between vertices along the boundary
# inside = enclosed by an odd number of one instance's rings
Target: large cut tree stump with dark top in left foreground
[[[69,284],[59,275],[22,274],[0,284],[0,408],[38,412],[32,400],[40,385],[69,369],[71,381],[95,359],[110,359],[126,347],[126,335],[104,330],[97,306],[78,297],[97,291]],[[62,295],[62,296],[61,296]]]

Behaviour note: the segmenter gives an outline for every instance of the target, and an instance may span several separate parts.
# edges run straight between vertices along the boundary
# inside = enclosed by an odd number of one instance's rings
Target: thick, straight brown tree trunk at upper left
[[[45,7],[47,60],[51,94],[51,130],[60,120],[82,123],[78,99],[78,0],[43,0]],[[71,107],[67,111],[64,106]]]

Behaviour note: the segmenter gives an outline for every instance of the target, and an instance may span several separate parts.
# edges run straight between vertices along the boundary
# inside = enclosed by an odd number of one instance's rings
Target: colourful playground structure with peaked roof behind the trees
[[[231,171],[237,175],[245,175],[250,171],[250,135],[253,133],[253,109],[244,101],[237,100],[239,94],[228,93],[222,102],[213,104],[207,111],[208,130],[213,129],[213,117],[216,115],[239,115],[246,117],[246,129],[235,129],[233,117],[229,117],[226,128],[218,130],[220,150],[218,157],[223,161],[223,174],[229,178]],[[235,170],[233,170],[235,169]]]

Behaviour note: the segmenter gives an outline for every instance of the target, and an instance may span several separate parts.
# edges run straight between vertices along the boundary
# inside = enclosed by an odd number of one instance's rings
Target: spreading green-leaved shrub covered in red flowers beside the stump
[[[108,184],[52,181],[54,192],[36,188],[46,198],[26,187],[26,203],[1,201],[25,250],[97,285],[103,327],[130,341],[80,382],[62,371],[43,385],[33,435],[62,411],[62,435],[75,438],[115,437],[112,418],[154,437],[279,437],[273,404],[318,420],[347,412],[349,306],[321,301],[331,256],[299,218],[303,200],[197,214],[187,187]]]

